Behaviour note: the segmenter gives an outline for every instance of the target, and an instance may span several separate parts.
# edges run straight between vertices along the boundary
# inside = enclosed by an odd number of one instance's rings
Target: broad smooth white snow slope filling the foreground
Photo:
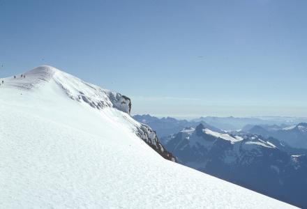
[[[163,159],[128,114],[68,98],[77,80],[52,70],[0,86],[0,208],[292,208]]]

